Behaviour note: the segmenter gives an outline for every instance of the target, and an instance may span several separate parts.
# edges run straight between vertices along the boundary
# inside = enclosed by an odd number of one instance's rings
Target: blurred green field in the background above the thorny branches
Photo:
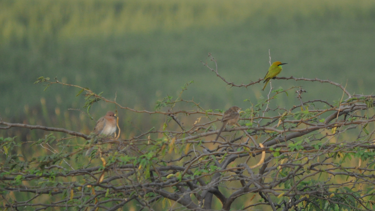
[[[329,78],[356,93],[372,93],[375,72],[373,1],[177,1],[177,0],[3,0],[0,2],[0,115],[16,118],[24,107],[48,112],[78,109],[78,90],[54,86],[43,92],[39,76],[89,87],[128,107],[152,110],[155,101],[176,96],[205,108],[249,107],[261,85],[230,88],[202,66],[207,54],[227,80],[249,83],[264,77],[272,61],[281,76]],[[212,65],[212,64],[211,64]],[[340,99],[327,84],[302,85],[305,99]],[[292,91],[293,93],[293,91]],[[281,106],[294,95],[278,99]],[[98,115],[113,109],[93,108]]]

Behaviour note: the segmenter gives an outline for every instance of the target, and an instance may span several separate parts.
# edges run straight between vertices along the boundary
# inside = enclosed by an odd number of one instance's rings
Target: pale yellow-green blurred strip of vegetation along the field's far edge
[[[212,27],[251,19],[275,23],[293,19],[373,18],[372,1],[246,0],[4,0],[0,3],[0,41],[98,38]]]

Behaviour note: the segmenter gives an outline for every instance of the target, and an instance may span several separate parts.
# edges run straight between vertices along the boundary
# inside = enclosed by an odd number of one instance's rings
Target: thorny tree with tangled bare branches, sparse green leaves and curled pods
[[[236,84],[220,76],[217,65],[204,65],[233,89],[258,89],[254,85],[263,80]],[[105,101],[116,112],[160,115],[165,121],[121,139],[121,125],[117,136],[109,138],[0,120],[1,130],[51,131],[32,141],[46,153],[27,159],[18,153],[24,145],[17,137],[0,137],[0,207],[114,211],[129,210],[131,203],[139,211],[372,210],[375,95],[351,94],[342,84],[318,78],[274,79],[329,83],[342,89],[342,96],[305,99],[302,87],[275,89],[271,84],[266,97],[256,103],[247,99],[249,106],[237,125],[226,127],[214,141],[224,110],[183,99],[192,82],[177,98],[166,96],[154,111],[147,111],[120,105],[89,88],[40,77],[36,83],[46,88],[76,87],[89,116],[96,102]],[[281,107],[276,99],[283,96],[300,103]],[[186,105],[193,109],[184,109]],[[64,136],[57,138],[56,133]]]

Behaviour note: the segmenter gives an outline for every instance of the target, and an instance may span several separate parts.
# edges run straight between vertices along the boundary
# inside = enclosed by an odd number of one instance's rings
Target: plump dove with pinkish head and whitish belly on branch
[[[117,122],[115,113],[109,111],[98,122],[96,122],[93,133],[95,135],[113,136],[117,129]],[[89,155],[94,147],[87,150],[86,155]]]

